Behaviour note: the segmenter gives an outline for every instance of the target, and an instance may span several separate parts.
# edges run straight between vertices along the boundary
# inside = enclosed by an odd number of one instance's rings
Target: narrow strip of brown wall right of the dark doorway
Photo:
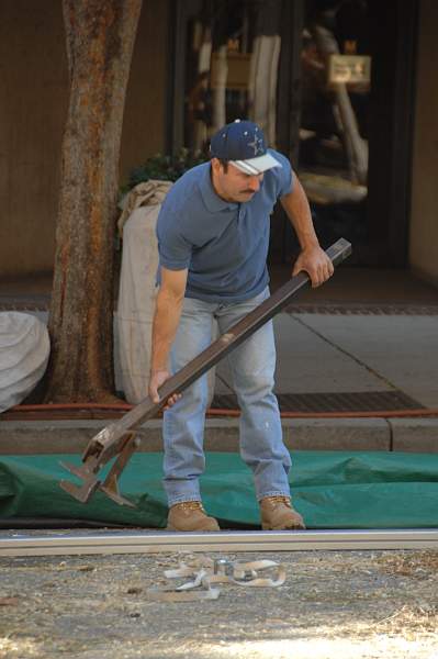
[[[420,0],[409,263],[438,287],[438,3]]]

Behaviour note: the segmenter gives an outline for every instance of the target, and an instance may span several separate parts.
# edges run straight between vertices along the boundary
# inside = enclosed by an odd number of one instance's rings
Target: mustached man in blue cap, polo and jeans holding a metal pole
[[[212,340],[269,297],[269,215],[280,199],[302,252],[293,275],[306,270],[314,287],[333,273],[321,249],[305,193],[289,160],[268,149],[262,131],[236,120],[211,139],[211,161],[184,174],[168,193],[157,223],[160,288],[151,349],[149,395]],[[170,366],[168,364],[170,356]],[[240,415],[240,455],[251,468],[263,529],[304,528],[293,510],[274,396],[276,348],[267,323],[233,351],[231,368]],[[204,469],[206,376],[183,396],[172,396],[164,415],[164,485],[168,528],[218,530],[199,489]]]

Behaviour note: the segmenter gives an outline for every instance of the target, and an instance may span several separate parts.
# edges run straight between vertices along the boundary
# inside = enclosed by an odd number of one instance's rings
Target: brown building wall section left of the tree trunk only
[[[61,3],[0,3],[0,273],[52,267],[67,110]]]

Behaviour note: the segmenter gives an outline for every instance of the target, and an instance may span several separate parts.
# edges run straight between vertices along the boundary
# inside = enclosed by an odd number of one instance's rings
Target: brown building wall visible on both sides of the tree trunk
[[[168,3],[144,2],[122,135],[121,181],[164,148]],[[68,74],[60,0],[0,2],[0,277],[53,268]]]

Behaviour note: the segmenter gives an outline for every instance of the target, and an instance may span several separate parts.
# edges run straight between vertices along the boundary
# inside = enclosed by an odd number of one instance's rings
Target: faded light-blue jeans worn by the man
[[[171,350],[172,372],[211,344],[213,317],[223,334],[268,297],[266,289],[238,303],[216,304],[186,298]],[[240,456],[252,470],[257,499],[289,496],[291,459],[283,444],[278,402],[272,392],[276,369],[272,321],[231,353],[229,366],[242,411]],[[205,467],[207,394],[204,375],[164,414],[164,485],[169,505],[201,499],[199,477]]]

